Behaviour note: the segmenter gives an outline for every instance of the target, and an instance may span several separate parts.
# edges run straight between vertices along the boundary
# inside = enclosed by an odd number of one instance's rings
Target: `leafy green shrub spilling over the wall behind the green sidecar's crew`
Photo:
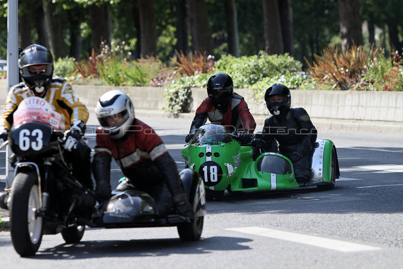
[[[260,52],[252,56],[222,56],[215,63],[214,73],[223,72],[231,76],[234,88],[250,89],[254,96],[252,102],[263,102],[264,91],[273,83],[282,83],[291,89],[314,89],[316,82],[310,76],[300,72],[302,63],[289,54],[267,55]],[[177,115],[190,100],[192,87],[205,88],[213,73],[182,77],[166,88],[166,111]],[[206,94],[207,96],[207,94]]]

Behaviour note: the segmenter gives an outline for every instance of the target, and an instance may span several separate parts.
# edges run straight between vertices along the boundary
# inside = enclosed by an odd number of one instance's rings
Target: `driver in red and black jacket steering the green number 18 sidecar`
[[[207,119],[227,126],[231,132],[238,132],[240,142],[249,140],[249,133],[253,133],[256,122],[243,97],[234,93],[231,77],[225,73],[211,76],[207,82],[207,94],[208,97],[196,109],[185,142],[191,140],[196,129],[204,125]]]

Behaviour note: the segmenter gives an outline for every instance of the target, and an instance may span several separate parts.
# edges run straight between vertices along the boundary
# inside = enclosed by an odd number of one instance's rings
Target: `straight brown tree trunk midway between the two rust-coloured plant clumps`
[[[157,55],[157,22],[154,0],[139,0],[140,57]]]

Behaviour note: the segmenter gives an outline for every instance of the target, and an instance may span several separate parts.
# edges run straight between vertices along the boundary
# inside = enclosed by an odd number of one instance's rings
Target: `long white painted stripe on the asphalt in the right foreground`
[[[260,227],[227,228],[226,230],[270,237],[280,240],[286,240],[311,246],[337,250],[341,252],[356,252],[356,251],[369,251],[369,250],[381,249],[379,247],[373,247],[364,244],[357,244],[342,240],[329,239],[313,235],[284,232]]]

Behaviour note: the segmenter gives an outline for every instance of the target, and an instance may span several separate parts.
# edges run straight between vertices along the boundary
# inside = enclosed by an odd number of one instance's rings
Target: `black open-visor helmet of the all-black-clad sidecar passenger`
[[[274,95],[283,96],[283,100],[281,102],[272,101],[271,99]],[[283,84],[275,83],[266,90],[264,101],[270,114],[275,116],[284,115],[291,108],[290,90]]]

